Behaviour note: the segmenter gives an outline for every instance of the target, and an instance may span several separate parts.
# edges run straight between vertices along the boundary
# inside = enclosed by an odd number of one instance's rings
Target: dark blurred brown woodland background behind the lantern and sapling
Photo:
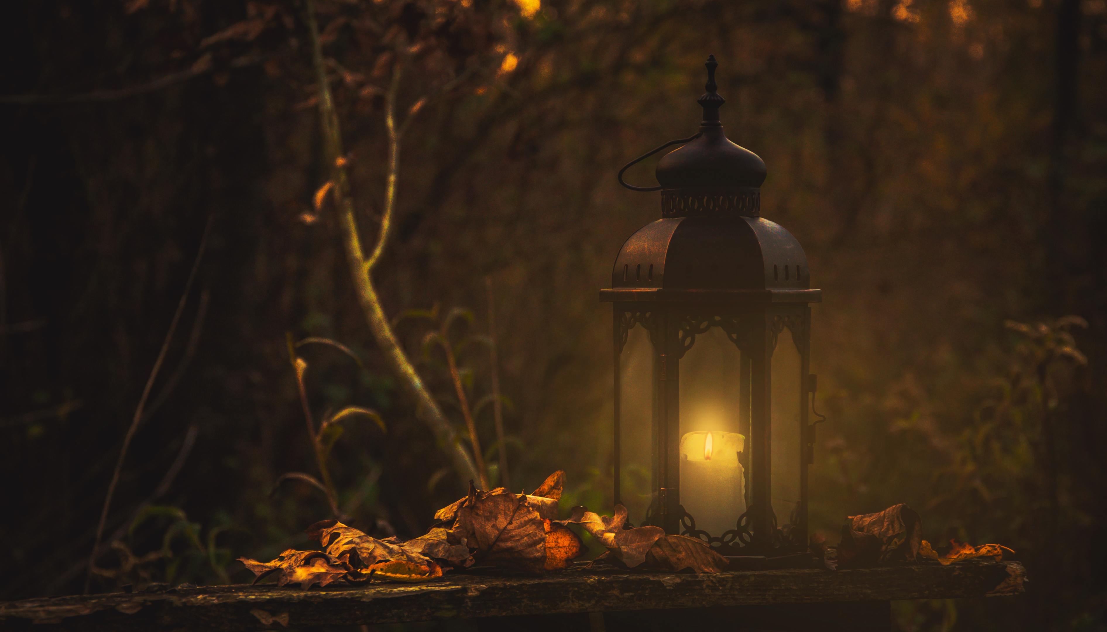
[[[714,53],[727,134],[768,165],[763,215],[799,238],[824,290],[816,528],[837,541],[845,516],[906,501],[931,541],[1000,542],[1030,569],[1025,598],[898,603],[901,630],[1107,629],[1104,0],[317,9],[365,236],[395,65],[401,108],[431,95],[375,280],[390,315],[472,309],[455,341],[489,333],[490,287],[514,488],[565,468],[567,504],[610,505],[610,308],[597,290],[622,240],[660,217],[614,173],[694,132]],[[3,12],[0,555],[20,572],[0,597],[81,591],[209,218],[93,590],[245,581],[229,560],[303,546],[329,516],[308,485],[275,489],[313,473],[288,332],[337,340],[364,365],[302,348],[315,414],[358,405],[386,422],[346,423],[330,457],[354,524],[423,532],[464,481],[380,361],[333,207],[313,207],[327,169],[302,3]],[[434,324],[396,327],[461,427],[448,373],[420,351]],[[487,349],[458,360],[477,401]],[[489,406],[476,423],[494,446]]]

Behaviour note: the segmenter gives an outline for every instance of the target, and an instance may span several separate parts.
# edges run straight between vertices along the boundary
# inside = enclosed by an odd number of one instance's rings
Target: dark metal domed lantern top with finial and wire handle
[[[809,289],[799,241],[761,217],[765,162],[726,138],[716,92],[715,55],[707,58],[700,133],[658,163],[661,216],[623,244],[603,300],[819,301]],[[623,167],[643,159],[642,156]],[[620,172],[620,182],[622,172]]]

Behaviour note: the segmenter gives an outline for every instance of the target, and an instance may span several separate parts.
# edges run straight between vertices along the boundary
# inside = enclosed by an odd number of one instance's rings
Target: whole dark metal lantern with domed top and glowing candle
[[[627,240],[600,291],[614,307],[614,495],[633,522],[795,566],[809,559],[808,304],[821,292],[795,237],[761,217],[765,163],[723,133],[717,65],[700,133],[619,172],[661,190],[662,218]],[[676,144],[660,186],[623,182]]]

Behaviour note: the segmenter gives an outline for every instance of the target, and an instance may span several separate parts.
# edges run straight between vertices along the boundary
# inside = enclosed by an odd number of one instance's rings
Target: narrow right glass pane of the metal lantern
[[[792,332],[777,336],[770,364],[770,479],[776,527],[796,524],[803,469],[803,363]]]

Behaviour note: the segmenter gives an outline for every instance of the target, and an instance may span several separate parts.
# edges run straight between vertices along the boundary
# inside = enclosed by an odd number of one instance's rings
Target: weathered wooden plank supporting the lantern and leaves
[[[1018,562],[973,561],[827,571],[815,569],[674,574],[575,568],[544,577],[457,573],[426,584],[276,586],[110,593],[0,604],[4,630],[263,630],[600,611],[720,608],[1023,592]],[[341,583],[341,582],[340,582]]]

